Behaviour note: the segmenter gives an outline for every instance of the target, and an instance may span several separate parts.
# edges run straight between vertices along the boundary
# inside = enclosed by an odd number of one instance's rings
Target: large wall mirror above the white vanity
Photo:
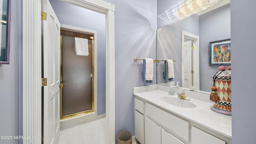
[[[211,76],[218,66],[209,66],[209,42],[230,38],[230,0],[218,3],[214,10],[209,8],[158,28],[157,59],[176,61],[175,77],[168,80],[163,77],[164,62],[157,64],[158,84],[170,86],[170,82],[180,82],[185,88],[211,91]]]

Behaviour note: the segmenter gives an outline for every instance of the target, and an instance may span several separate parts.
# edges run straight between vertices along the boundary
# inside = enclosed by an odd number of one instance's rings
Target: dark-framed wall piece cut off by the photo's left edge
[[[9,64],[10,0],[0,2],[0,64]]]

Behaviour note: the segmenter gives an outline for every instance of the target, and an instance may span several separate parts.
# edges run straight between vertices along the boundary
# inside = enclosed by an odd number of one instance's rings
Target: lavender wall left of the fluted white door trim
[[[22,2],[11,4],[10,64],[0,64],[0,136],[22,135]],[[0,143],[19,140],[0,139]]]

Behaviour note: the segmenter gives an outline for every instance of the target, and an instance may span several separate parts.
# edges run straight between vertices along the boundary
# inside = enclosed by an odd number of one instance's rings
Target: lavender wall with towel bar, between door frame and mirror
[[[134,62],[134,58],[156,58],[157,0],[105,1],[114,4],[116,9],[116,136],[122,130],[134,136],[132,88],[144,85],[143,61]],[[153,84],[156,84],[156,64],[154,67]]]

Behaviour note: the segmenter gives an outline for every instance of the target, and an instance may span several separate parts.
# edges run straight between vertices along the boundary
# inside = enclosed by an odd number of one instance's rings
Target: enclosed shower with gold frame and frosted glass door
[[[94,112],[94,35],[61,28],[61,119]],[[75,37],[88,40],[88,56],[77,55]],[[87,41],[86,40],[86,41]]]

